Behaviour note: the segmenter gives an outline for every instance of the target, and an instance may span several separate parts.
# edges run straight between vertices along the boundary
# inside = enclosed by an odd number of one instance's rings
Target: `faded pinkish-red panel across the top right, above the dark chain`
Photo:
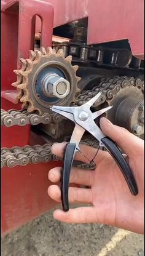
[[[132,54],[144,59],[144,0],[45,1],[53,4],[54,26],[88,17],[88,44],[128,39]]]

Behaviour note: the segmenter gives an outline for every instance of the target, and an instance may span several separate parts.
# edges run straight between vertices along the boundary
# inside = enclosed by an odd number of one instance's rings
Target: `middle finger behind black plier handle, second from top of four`
[[[51,182],[60,182],[62,167],[55,167],[49,171],[49,180]],[[69,183],[75,183],[79,185],[92,186],[94,172],[92,170],[84,170],[76,167],[72,167],[69,178]]]

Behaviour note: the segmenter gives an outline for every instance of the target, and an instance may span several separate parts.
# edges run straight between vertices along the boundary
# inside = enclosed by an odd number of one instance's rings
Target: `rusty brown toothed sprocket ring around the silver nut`
[[[70,83],[69,94],[62,99],[57,100],[55,105],[67,105],[74,102],[77,94],[79,94],[79,88],[77,82],[80,78],[76,76],[76,71],[79,66],[72,66],[72,57],[64,57],[63,50],[60,49],[56,53],[55,49],[48,47],[47,50],[41,47],[41,50],[30,50],[28,59],[20,59],[22,68],[20,70],[14,70],[17,74],[17,81],[12,86],[17,87],[17,97],[20,102],[23,102],[22,108],[28,112],[37,111],[39,114],[51,113],[49,107],[50,102],[45,102],[36,91],[37,76],[44,68],[54,67],[58,68],[65,74],[65,78]]]

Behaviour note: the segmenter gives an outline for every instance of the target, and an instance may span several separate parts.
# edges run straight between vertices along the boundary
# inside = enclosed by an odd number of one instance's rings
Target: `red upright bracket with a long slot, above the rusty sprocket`
[[[5,38],[2,40],[4,42],[2,45],[2,55],[4,56],[2,57],[5,60],[2,65],[2,74],[3,76],[8,76],[16,66],[18,69],[20,68],[20,58],[28,58],[29,50],[34,49],[36,15],[42,21],[41,45],[45,48],[52,46],[53,6],[49,2],[41,0],[12,0],[5,2],[2,1],[1,10],[2,18],[6,23],[5,31],[2,31],[2,36]],[[12,76],[13,78],[14,76]],[[14,80],[11,81],[11,79],[7,79],[7,83],[6,81],[2,82],[1,96],[12,103],[18,103],[15,90],[10,88],[10,83],[12,82]]]

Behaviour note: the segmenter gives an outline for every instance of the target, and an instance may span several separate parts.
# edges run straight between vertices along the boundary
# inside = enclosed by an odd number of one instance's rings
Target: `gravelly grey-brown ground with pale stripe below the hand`
[[[106,225],[66,225],[52,212],[1,242],[2,256],[144,256],[144,236]]]

